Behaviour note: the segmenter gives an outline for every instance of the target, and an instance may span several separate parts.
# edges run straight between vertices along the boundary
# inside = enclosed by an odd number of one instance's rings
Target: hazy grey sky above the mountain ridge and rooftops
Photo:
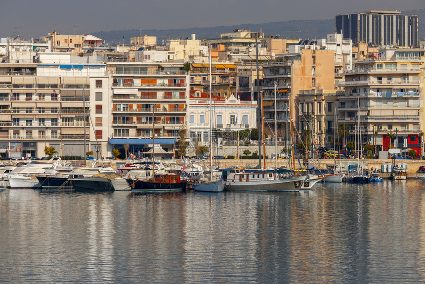
[[[123,29],[177,29],[333,19],[338,13],[424,9],[424,0],[11,0],[2,2],[0,37],[42,37]]]

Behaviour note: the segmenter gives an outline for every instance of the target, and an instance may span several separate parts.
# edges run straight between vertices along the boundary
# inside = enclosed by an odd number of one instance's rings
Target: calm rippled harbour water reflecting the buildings
[[[0,283],[425,282],[425,184],[0,193]]]

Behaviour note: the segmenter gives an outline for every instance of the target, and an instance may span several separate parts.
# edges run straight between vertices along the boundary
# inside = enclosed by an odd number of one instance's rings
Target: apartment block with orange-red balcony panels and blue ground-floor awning
[[[155,144],[174,155],[179,131],[186,130],[189,75],[183,64],[111,62],[112,148],[147,151]]]

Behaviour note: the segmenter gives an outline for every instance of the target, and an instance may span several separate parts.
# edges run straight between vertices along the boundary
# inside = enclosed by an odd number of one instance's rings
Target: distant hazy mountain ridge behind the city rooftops
[[[425,38],[425,9],[404,11],[402,14],[419,16],[419,38]],[[292,20],[286,22],[271,22],[263,24],[243,24],[234,26],[217,26],[209,28],[188,28],[188,29],[169,29],[169,30],[142,30],[147,36],[156,36],[157,43],[161,45],[168,39],[190,38],[192,33],[197,39],[217,39],[221,33],[229,33],[234,29],[248,29],[257,32],[261,28],[262,32],[268,36],[280,35],[280,38],[309,38],[322,39],[327,34],[335,32],[335,19],[330,20]],[[106,43],[128,44],[130,38],[138,37],[140,32],[137,29],[126,31],[93,32],[92,35],[105,40]]]

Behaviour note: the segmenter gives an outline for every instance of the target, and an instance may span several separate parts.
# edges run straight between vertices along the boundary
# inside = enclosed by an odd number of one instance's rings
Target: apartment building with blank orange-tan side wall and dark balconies
[[[308,48],[308,49],[307,49]],[[297,121],[299,115],[300,90],[335,89],[335,52],[320,49],[315,45],[294,46],[291,53],[278,54],[276,61],[264,63],[263,67],[263,108],[265,131],[274,131],[275,108],[277,111],[278,139],[284,137],[285,125],[290,115],[300,131],[307,127]],[[276,86],[276,105],[275,90]]]

